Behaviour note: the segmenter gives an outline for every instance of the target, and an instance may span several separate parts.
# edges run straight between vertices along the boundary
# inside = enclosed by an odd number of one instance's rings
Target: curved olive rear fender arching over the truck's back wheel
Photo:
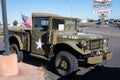
[[[18,35],[11,35],[11,36],[9,36],[9,41],[10,41],[10,40],[13,40],[13,41],[12,41],[13,43],[15,43],[15,42],[17,41],[20,50],[23,50],[23,43],[22,43],[22,41],[21,41],[20,36],[18,36]],[[11,42],[11,41],[10,41],[10,42]]]

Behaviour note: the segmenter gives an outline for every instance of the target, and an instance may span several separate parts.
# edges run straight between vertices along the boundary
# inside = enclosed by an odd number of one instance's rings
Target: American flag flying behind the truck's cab
[[[22,15],[22,25],[26,28],[32,28],[32,18]]]

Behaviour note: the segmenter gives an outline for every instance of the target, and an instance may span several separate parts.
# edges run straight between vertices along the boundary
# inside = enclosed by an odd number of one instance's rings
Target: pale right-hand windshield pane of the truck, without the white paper
[[[73,19],[66,20],[66,30],[75,30],[76,29],[76,21]]]

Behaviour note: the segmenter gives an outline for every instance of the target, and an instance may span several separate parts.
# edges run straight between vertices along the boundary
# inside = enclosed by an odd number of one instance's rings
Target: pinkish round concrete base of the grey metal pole
[[[18,74],[17,55],[0,55],[0,76],[12,76]]]

